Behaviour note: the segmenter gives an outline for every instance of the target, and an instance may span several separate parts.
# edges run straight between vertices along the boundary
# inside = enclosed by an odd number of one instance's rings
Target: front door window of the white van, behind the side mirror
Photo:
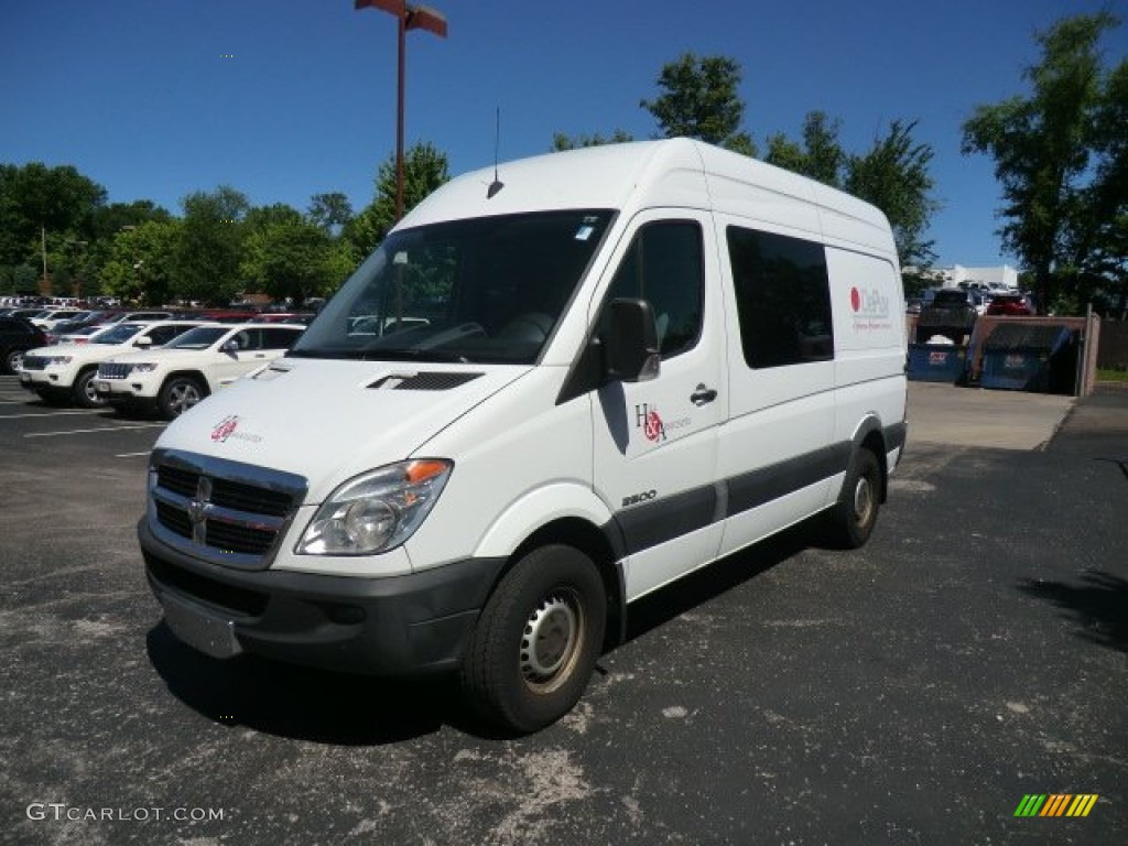
[[[647,300],[654,310],[658,349],[664,360],[697,344],[704,297],[700,227],[688,220],[671,220],[647,223],[635,233],[605,302],[619,298]],[[605,308],[603,320],[608,314]]]

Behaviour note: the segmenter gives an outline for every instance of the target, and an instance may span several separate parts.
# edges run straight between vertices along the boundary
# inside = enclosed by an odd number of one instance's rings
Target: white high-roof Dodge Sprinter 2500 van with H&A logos
[[[161,435],[150,584],[208,654],[455,672],[536,730],[640,597],[814,515],[866,541],[902,300],[880,211],[698,142],[462,176]]]

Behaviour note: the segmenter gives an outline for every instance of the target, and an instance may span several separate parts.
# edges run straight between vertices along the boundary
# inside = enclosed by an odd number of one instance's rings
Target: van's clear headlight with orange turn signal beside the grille
[[[421,458],[350,479],[321,503],[297,552],[371,555],[394,549],[430,513],[453,466],[446,459]]]

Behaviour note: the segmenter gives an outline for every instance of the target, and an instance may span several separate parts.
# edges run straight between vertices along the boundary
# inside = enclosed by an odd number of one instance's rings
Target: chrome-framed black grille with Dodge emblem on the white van
[[[155,450],[149,522],[166,544],[214,564],[270,566],[308,485],[293,474]]]

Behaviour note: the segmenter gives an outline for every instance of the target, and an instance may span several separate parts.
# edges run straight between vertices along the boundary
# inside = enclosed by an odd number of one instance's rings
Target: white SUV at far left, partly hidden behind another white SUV
[[[41,346],[24,355],[19,384],[41,398],[72,399],[83,408],[103,404],[94,390],[98,364],[135,347],[167,344],[206,320],[133,320],[100,332],[88,344]]]

